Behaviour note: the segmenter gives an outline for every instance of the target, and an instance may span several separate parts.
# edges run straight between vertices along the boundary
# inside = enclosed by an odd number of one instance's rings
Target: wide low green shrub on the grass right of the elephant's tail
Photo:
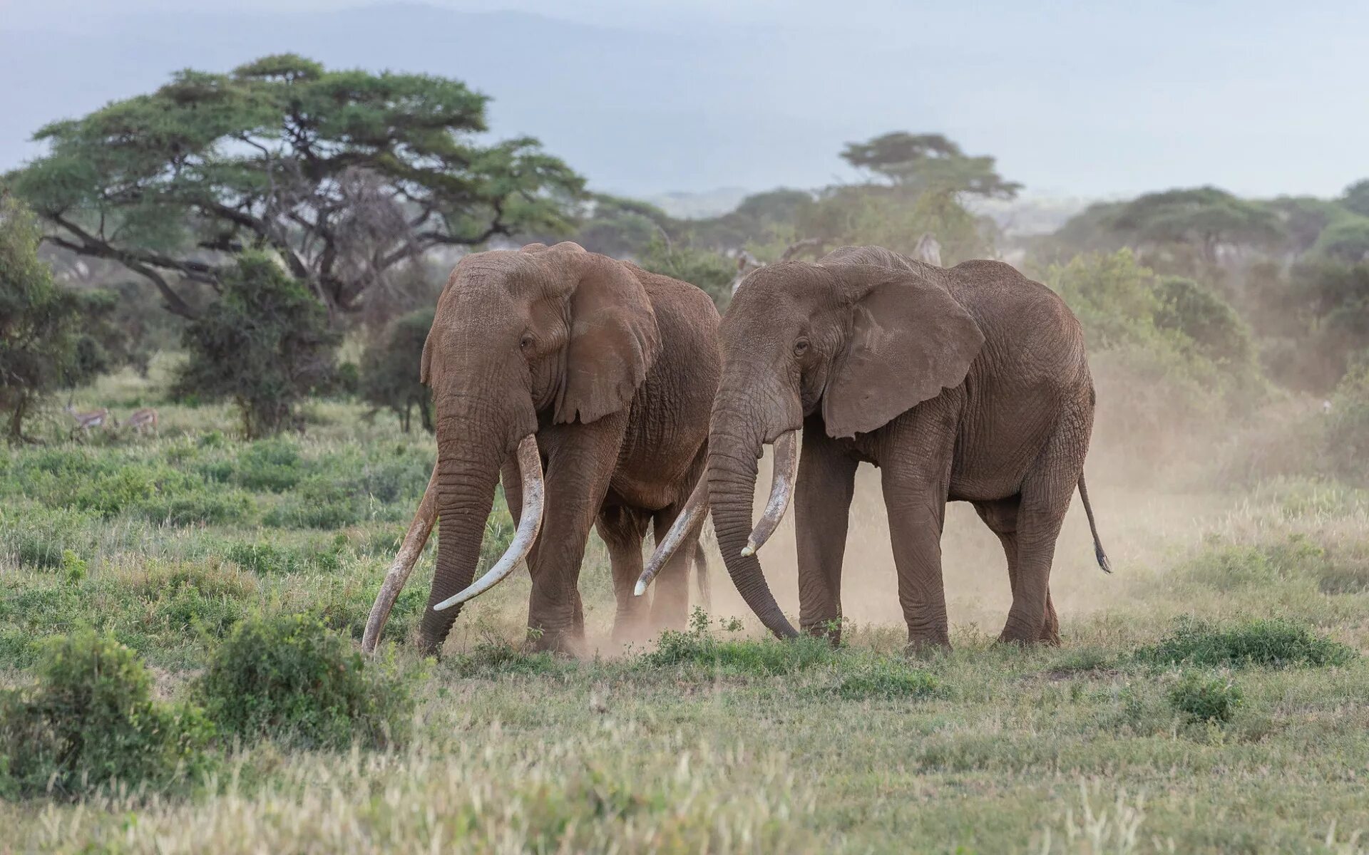
[[[1158,644],[1136,651],[1136,658],[1150,665],[1212,668],[1344,665],[1355,655],[1350,647],[1283,618],[1255,618],[1216,629],[1203,621],[1183,617]]]

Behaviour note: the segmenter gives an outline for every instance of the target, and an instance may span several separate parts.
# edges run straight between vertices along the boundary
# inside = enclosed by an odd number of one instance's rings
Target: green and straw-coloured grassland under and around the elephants
[[[156,365],[152,378],[105,378],[77,401],[127,410],[157,399]],[[257,442],[233,435],[226,408],[159,406],[156,438],[0,458],[0,681],[30,687],[45,639],[93,628],[145,663],[151,703],[205,705],[215,732],[166,787],[85,781],[0,800],[0,851],[1369,847],[1369,494],[1335,480],[1136,487],[1124,450],[1098,450],[1091,487],[1116,572],[1092,566],[1076,506],[1053,576],[1060,648],[991,643],[1006,573],[957,506],[956,650],[925,659],[901,653],[868,484],[836,651],[764,639],[716,547],[712,614],[612,646],[596,539],[580,590],[598,655],[524,653],[519,575],[461,616],[442,659],[420,661],[405,642],[430,547],[390,620],[394,644],[366,666],[385,673],[367,685],[407,700],[366,710],[371,736],[309,741],[233,732],[233,710],[205,699],[215,651],[242,621],[290,614],[355,644],[431,439],[341,402],[311,404],[304,436]],[[486,561],[511,534],[501,502]],[[764,553],[790,610],[791,555],[786,532]]]

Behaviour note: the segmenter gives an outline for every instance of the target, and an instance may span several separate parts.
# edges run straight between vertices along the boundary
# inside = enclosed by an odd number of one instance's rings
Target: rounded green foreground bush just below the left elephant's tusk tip
[[[412,725],[411,681],[303,614],[238,624],[214,651],[200,692],[225,732],[305,748],[401,744]]]

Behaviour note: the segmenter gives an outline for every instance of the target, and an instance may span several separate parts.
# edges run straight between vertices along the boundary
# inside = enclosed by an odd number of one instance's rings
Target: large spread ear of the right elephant
[[[831,436],[868,434],[965,379],[984,334],[941,283],[882,267],[834,268],[854,317],[823,394]]]

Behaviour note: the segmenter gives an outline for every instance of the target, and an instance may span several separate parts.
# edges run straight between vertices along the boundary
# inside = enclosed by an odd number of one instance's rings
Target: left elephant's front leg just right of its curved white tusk
[[[528,555],[533,594],[527,609],[538,650],[576,654],[583,648],[580,561],[608,494],[626,425],[627,413],[622,412],[591,424],[545,427],[538,434],[546,454],[546,512]]]

